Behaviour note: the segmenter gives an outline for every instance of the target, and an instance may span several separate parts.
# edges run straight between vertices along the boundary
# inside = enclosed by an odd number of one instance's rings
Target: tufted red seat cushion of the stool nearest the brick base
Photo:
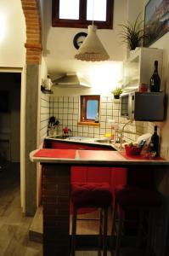
[[[108,207],[112,201],[109,183],[71,183],[71,201],[75,207]]]

